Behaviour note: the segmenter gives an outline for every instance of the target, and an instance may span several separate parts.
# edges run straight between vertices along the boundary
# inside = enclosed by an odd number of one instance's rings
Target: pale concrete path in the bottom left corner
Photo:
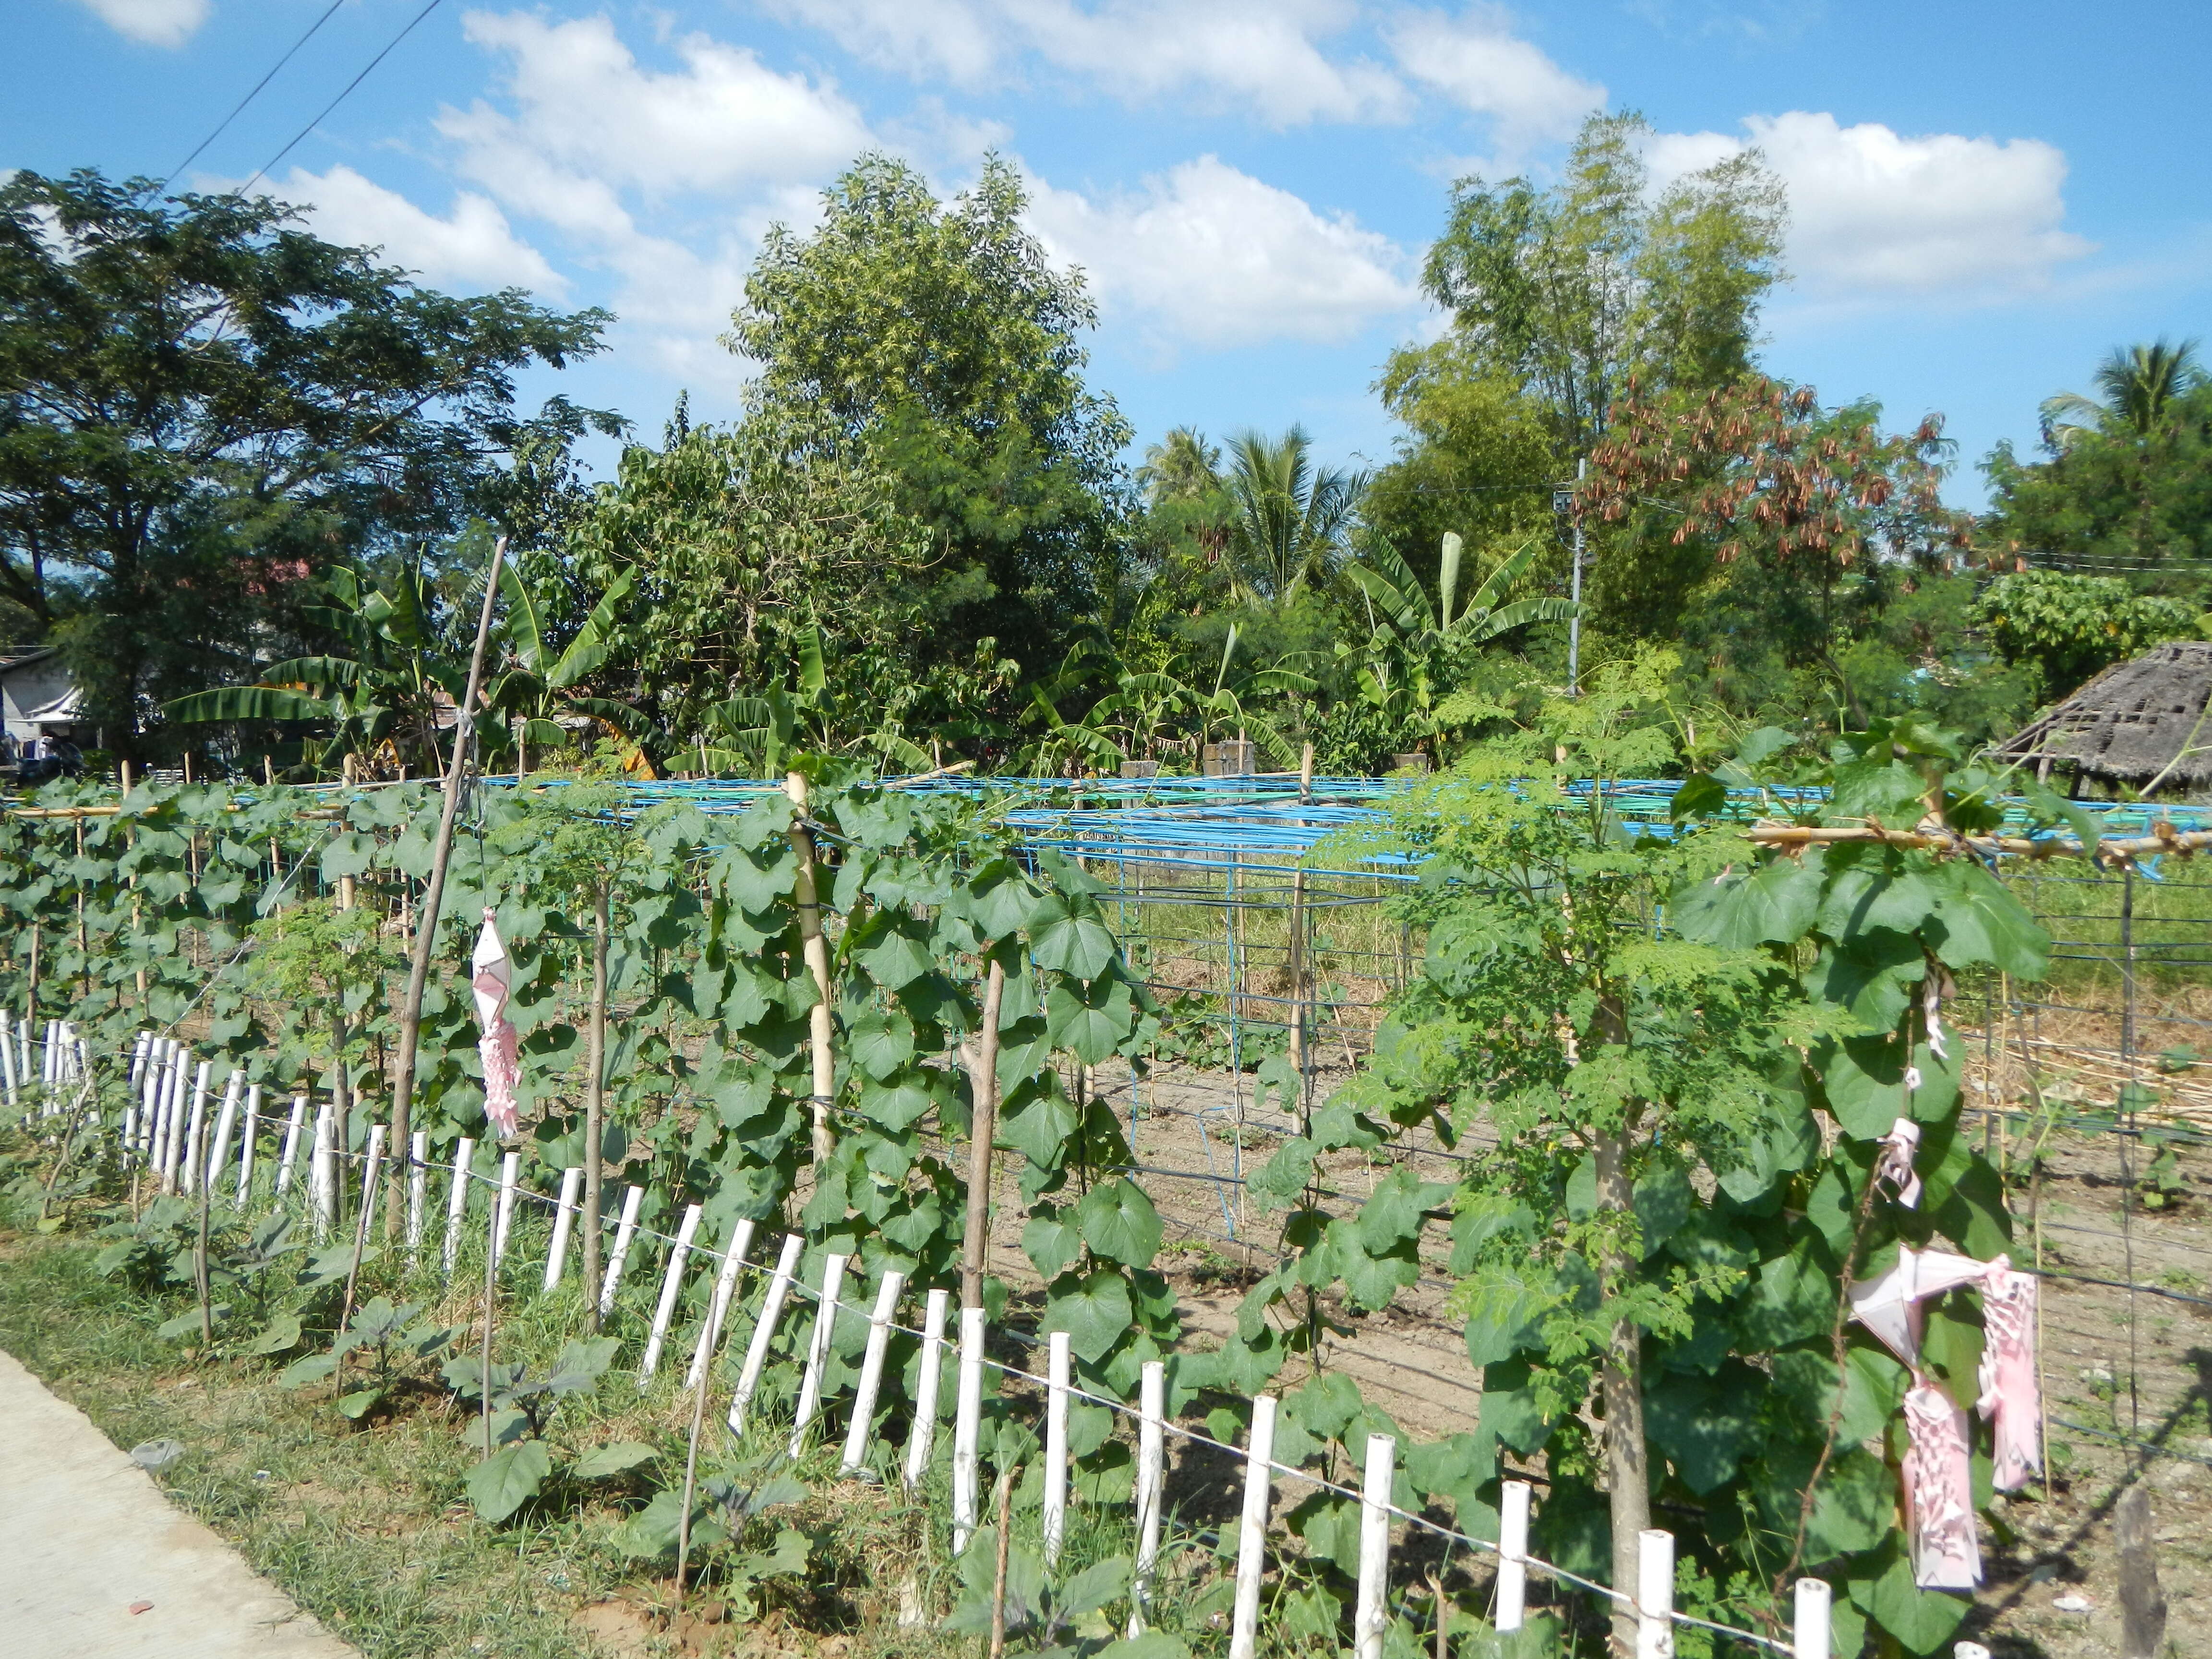
[[[361,1659],[0,1354],[0,1652]]]

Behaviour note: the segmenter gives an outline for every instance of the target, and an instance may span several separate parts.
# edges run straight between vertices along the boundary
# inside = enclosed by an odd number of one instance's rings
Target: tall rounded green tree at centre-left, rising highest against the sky
[[[1084,385],[1082,274],[1053,268],[1024,208],[998,157],[938,201],[905,161],[865,155],[812,234],[770,230],[728,345],[759,365],[757,414],[894,482],[951,599],[940,641],[995,639],[1035,670],[1088,611],[1130,429]]]

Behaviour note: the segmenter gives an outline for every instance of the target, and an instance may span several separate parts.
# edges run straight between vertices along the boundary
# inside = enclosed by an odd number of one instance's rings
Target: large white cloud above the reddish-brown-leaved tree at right
[[[2042,139],[1900,137],[1807,111],[1743,126],[1743,139],[1661,135],[1652,175],[1681,177],[1756,144],[1790,190],[1787,263],[1807,294],[1997,299],[2090,250],[2064,230],[2066,155]]]

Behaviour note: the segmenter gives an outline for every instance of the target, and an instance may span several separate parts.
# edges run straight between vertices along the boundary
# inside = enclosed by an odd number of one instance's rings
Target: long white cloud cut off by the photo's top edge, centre
[[[1358,22],[1352,0],[770,0],[856,58],[916,80],[982,86],[1029,58],[1130,104],[1250,111],[1270,126],[1405,119],[1380,64],[1323,42]]]

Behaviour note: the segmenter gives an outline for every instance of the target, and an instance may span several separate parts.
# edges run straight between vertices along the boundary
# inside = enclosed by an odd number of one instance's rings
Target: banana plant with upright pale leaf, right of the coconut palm
[[[1535,564],[1533,538],[1506,555],[1467,606],[1453,613],[1462,551],[1458,531],[1447,531],[1438,571],[1440,604],[1429,604],[1420,577],[1380,538],[1369,540],[1360,562],[1349,566],[1354,586],[1367,599],[1369,639],[1365,646],[1338,646],[1338,655],[1365,657],[1356,681],[1360,701],[1402,732],[1400,741],[1436,737],[1436,703],[1451,690],[1444,681],[1458,653],[1531,622],[1566,622],[1577,615],[1573,599],[1535,597],[1500,604]]]

